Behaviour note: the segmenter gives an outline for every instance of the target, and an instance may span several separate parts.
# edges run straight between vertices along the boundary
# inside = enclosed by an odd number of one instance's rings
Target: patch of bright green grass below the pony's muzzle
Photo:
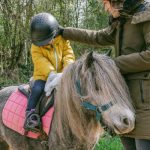
[[[101,138],[94,150],[124,150],[119,137],[106,135]]]

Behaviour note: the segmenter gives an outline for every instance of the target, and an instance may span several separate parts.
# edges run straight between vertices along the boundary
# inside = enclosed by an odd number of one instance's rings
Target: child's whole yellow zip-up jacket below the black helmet
[[[74,62],[75,57],[70,42],[58,36],[52,45],[31,46],[32,61],[34,64],[34,80],[47,79],[51,71],[62,72],[64,67]]]

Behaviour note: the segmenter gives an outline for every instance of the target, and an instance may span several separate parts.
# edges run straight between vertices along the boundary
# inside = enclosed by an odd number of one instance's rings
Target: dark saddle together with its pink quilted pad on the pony
[[[49,134],[54,113],[54,93],[46,97],[43,93],[36,107],[36,113],[40,116],[41,132],[26,132],[24,129],[25,113],[30,94],[29,85],[21,85],[8,98],[2,112],[2,120],[8,128],[31,138],[46,140]]]

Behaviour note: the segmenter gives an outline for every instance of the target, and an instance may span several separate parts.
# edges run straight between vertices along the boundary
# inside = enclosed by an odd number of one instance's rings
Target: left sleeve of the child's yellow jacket
[[[40,47],[32,45],[31,55],[35,72],[48,77],[51,71],[55,71],[52,63],[43,56]]]

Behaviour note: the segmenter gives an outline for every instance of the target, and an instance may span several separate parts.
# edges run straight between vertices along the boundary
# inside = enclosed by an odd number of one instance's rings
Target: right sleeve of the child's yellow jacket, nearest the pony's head
[[[75,61],[73,49],[69,40],[64,40],[63,47],[63,68]]]

